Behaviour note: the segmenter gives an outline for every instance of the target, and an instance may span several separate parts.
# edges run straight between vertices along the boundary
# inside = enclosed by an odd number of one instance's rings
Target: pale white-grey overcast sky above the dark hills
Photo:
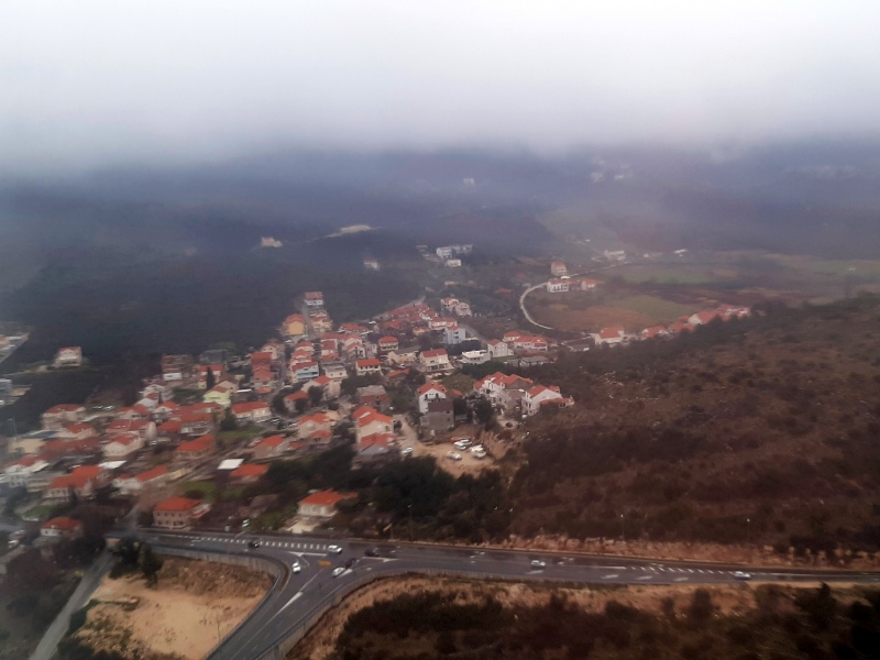
[[[0,167],[880,135],[880,2],[2,0]]]

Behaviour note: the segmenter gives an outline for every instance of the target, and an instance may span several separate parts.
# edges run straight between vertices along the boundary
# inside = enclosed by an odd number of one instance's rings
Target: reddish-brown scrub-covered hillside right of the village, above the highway
[[[877,297],[768,307],[537,375],[579,403],[532,424],[516,532],[880,546]]]

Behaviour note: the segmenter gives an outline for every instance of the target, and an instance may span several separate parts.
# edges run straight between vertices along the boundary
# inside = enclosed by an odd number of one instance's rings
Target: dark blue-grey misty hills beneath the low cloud
[[[420,262],[416,244],[474,243],[481,258],[510,258],[552,254],[602,229],[639,250],[880,258],[878,183],[880,145],[851,143],[712,153],[642,145],[556,158],[278,152],[8,178],[0,182],[0,318],[43,328],[47,343],[91,344],[108,359],[230,336],[257,341],[304,287],[336,289],[340,299],[372,282],[366,298],[336,310],[342,317],[416,295],[407,271]],[[549,227],[542,218],[556,210],[565,220]],[[375,230],[324,238],[352,224]],[[284,248],[258,250],[263,235]],[[367,256],[403,271],[365,277]],[[222,311],[229,299],[234,315]],[[206,317],[206,307],[221,310]],[[168,314],[172,323],[188,316],[174,338],[139,330]],[[215,320],[230,316],[238,320]],[[34,356],[41,350],[32,348]]]

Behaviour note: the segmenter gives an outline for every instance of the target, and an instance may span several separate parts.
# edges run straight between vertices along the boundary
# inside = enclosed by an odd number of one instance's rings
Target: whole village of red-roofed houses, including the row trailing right
[[[466,250],[440,252],[448,261]],[[551,264],[551,275],[549,293],[598,286],[570,278],[562,262]],[[0,480],[24,493],[15,512],[31,526],[31,537],[38,528],[34,542],[45,549],[81,534],[66,513],[108,497],[139,503],[142,525],[245,529],[273,508],[277,496],[249,496],[273,464],[339,447],[351,447],[354,469],[430,455],[452,474],[476,474],[503,453],[491,444],[497,440],[493,429],[510,439],[542,410],[578,405],[556,384],[529,377],[529,369],[591,346],[531,330],[485,339],[469,326],[475,314],[466,300],[444,296],[435,306],[421,299],[367,321],[337,324],[323,294],[307,292],[277,337],[250,354],[211,349],[198,356],[163,355],[161,371],[144,380],[131,406],[62,404],[45,410],[38,431],[11,442],[12,460]],[[637,333],[605,328],[591,345],[668,339],[748,314],[723,306]],[[58,360],[81,362],[82,354],[65,348]],[[219,506],[218,493],[234,502]],[[311,529],[330,521],[350,497],[332,490],[309,493],[270,525]]]

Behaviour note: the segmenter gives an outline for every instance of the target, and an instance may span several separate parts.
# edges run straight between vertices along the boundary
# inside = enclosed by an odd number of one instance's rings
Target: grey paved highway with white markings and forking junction
[[[594,584],[723,584],[737,581],[735,571],[746,570],[756,581],[846,581],[880,582],[877,573],[744,569],[694,562],[657,562],[614,557],[564,556],[549,552],[513,550],[474,550],[450,546],[419,546],[369,541],[338,541],[312,537],[254,537],[209,532],[143,532],[156,549],[182,548],[206,552],[260,556],[278,562],[286,570],[268,596],[252,615],[209,656],[211,660],[258,658],[278,640],[310,625],[328,604],[373,575],[402,572],[438,571],[486,578],[551,580]],[[258,548],[250,540],[258,539]],[[330,544],[342,548],[329,551]],[[365,557],[367,549],[378,549],[378,557]],[[336,568],[349,560],[353,565],[338,578]],[[532,566],[532,560],[546,562]],[[289,568],[301,565],[300,573]]]

